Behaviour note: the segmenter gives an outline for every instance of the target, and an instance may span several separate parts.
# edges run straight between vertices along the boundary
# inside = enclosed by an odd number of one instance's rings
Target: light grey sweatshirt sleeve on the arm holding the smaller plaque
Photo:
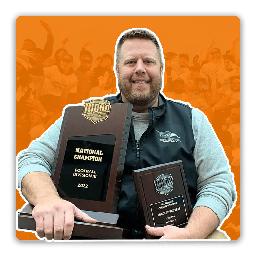
[[[234,175],[225,152],[204,115],[192,109],[192,129],[195,138],[193,152],[197,170],[197,206],[212,209],[223,221],[236,199]]]

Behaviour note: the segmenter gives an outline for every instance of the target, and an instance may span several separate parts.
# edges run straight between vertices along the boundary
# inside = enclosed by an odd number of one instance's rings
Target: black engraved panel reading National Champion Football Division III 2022
[[[115,139],[116,134],[68,138],[58,185],[61,196],[106,200]]]

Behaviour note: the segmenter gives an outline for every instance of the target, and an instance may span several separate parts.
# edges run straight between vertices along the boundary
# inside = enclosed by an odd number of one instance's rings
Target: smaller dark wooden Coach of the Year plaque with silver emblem
[[[181,160],[135,170],[132,176],[144,226],[186,226],[192,206]],[[158,239],[147,232],[146,238]]]

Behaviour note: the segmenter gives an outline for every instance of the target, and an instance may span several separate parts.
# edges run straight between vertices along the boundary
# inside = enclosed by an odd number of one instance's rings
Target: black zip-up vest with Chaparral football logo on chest
[[[162,95],[160,97],[164,102],[162,105],[148,108],[149,126],[140,138],[138,150],[133,125],[131,124],[130,127],[117,213],[122,216],[119,221],[120,226],[132,230],[133,239],[142,239],[145,235],[136,200],[132,170],[182,160],[192,207],[196,203],[197,174],[193,157],[195,141],[191,108],[188,105],[166,100]],[[120,95],[117,98],[108,97],[106,100],[110,103],[121,103],[118,98]],[[165,139],[164,137],[169,137],[168,133],[174,133],[176,136]]]

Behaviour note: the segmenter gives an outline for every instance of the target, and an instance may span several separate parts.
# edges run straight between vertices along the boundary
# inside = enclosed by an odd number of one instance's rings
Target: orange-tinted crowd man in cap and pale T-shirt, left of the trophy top
[[[43,63],[31,68],[34,76],[44,76],[40,101],[46,111],[58,113],[67,104],[77,103],[77,77],[74,75],[73,56],[63,54],[60,65],[53,65],[55,58],[49,57]]]

